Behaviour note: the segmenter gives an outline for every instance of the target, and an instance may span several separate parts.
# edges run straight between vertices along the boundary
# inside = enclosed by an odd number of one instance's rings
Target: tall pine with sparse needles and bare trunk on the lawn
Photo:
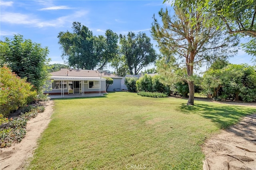
[[[175,6],[174,16],[169,16],[167,8],[165,11],[161,9],[159,16],[162,25],[154,16],[151,30],[160,49],[176,57],[176,64],[186,66],[187,75],[182,79],[189,86],[187,105],[194,105],[194,66],[220,57],[230,57],[235,51],[232,47],[238,44],[236,37],[230,37],[215,25],[205,23],[208,16],[197,7],[196,3],[190,8]]]

